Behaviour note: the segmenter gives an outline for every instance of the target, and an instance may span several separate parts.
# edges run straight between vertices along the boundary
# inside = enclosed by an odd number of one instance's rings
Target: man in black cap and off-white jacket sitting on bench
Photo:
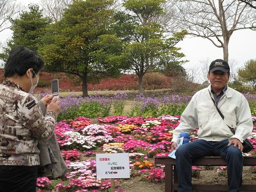
[[[177,139],[181,132],[191,132],[199,126],[199,139],[181,145],[175,153],[179,192],[192,191],[192,162],[204,156],[225,158],[228,165],[229,192],[240,191],[243,171],[242,143],[253,131],[253,121],[247,99],[228,87],[229,76],[228,62],[211,62],[208,72],[210,86],[192,97],[181,115],[180,125],[174,130],[172,150],[177,148]]]

